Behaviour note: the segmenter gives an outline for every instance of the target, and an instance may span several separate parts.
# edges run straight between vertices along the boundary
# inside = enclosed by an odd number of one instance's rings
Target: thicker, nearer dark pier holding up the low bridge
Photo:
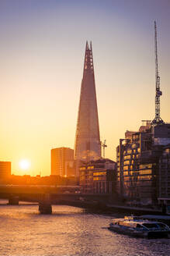
[[[39,210],[40,214],[51,214],[52,213],[52,206],[50,203],[50,194],[41,194],[38,210]]]

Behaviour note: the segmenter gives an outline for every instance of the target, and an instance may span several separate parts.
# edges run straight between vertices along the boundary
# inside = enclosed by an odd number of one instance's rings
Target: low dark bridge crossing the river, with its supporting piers
[[[52,213],[52,204],[99,207],[110,196],[82,194],[79,186],[0,185],[0,198],[9,199],[9,204],[19,204],[19,201],[38,202],[40,213]]]

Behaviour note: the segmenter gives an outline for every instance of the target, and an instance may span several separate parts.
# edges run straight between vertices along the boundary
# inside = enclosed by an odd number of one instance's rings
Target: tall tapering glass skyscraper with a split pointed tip
[[[86,42],[85,64],[75,136],[75,160],[88,162],[99,158],[101,158],[101,143],[95,93],[92,42],[90,43],[90,48],[88,42]]]

